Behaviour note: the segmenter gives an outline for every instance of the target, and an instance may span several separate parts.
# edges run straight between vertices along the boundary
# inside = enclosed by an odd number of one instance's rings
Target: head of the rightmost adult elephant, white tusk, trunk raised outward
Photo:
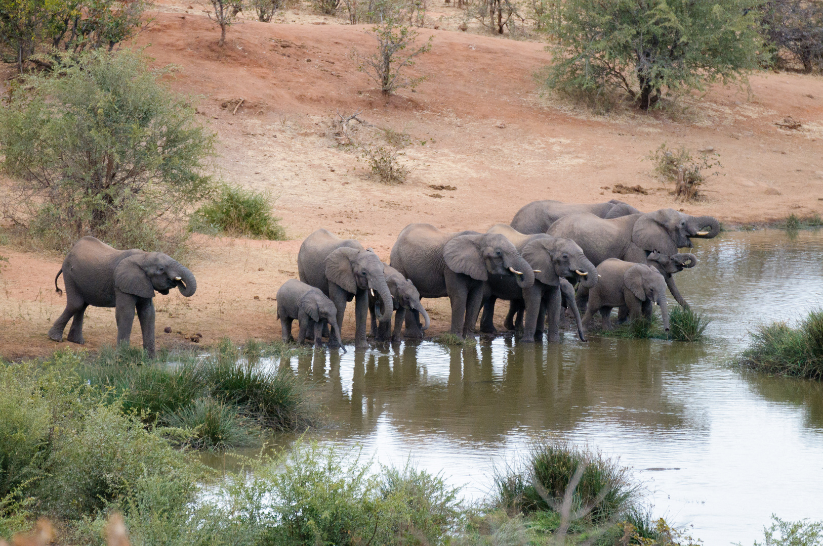
[[[674,209],[660,209],[641,215],[635,221],[631,242],[644,251],[677,254],[678,248],[691,248],[690,238],[713,238],[720,223],[711,216],[691,216]]]

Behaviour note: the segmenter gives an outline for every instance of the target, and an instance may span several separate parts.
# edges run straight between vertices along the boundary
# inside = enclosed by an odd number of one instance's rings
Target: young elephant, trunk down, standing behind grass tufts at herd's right
[[[597,266],[600,278],[597,285],[588,290],[588,308],[583,322],[592,320],[599,311],[603,319],[603,330],[611,330],[611,308],[620,308],[620,317],[628,312],[631,320],[638,319],[642,312],[645,318],[652,317],[652,304],[657,303],[663,314],[663,328],[668,331],[668,306],[666,303],[666,280],[663,275],[645,264],[609,258]]]

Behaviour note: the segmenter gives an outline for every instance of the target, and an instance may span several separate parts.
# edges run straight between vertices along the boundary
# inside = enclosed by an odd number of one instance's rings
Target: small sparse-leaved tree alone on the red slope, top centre
[[[414,66],[414,58],[431,50],[434,36],[412,49],[412,53],[403,53],[407,47],[414,46],[419,33],[406,25],[398,24],[395,19],[385,19],[382,25],[372,27],[371,32],[367,31],[366,34],[377,41],[377,52],[366,57],[352,49],[351,54],[358,61],[357,70],[365,72],[374,80],[384,95],[405,87],[414,90],[425,81],[427,76],[408,77],[403,72],[407,67]]]

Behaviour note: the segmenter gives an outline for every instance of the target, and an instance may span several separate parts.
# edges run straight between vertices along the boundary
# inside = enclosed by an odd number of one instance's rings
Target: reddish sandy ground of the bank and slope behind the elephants
[[[275,19],[282,22],[231,27],[220,49],[219,28],[189,6],[162,3],[137,45],[158,66],[178,68],[170,84],[198,97],[202,121],[219,136],[219,176],[277,197],[276,214],[291,240],[198,236],[188,264],[198,276],[197,294],[155,300],[159,345],[189,343],[184,336],[193,333],[203,344],[223,335],[279,336],[277,287],[296,276],[300,241],[321,227],[359,239],[388,261],[407,224],[485,231],[537,199],[620,198],[643,211],[671,206],[729,224],[823,212],[819,77],[761,73],[751,78],[751,90],[715,86],[681,101],[683,107],[595,116],[542,96],[534,75],[549,61],[544,44],[444,30],[456,29],[459,16],[440,7],[432,22],[440,29],[421,29],[422,39],[434,36],[433,48],[412,71],[429,80],[385,99],[352,58],[352,48],[374,47],[364,34],[368,26],[288,10]],[[402,158],[412,169],[406,183],[374,181],[360,155],[338,146],[332,118],[356,111],[375,127],[411,136]],[[785,116],[801,129],[775,125]],[[379,131],[362,134],[368,132]],[[653,174],[644,158],[663,142],[720,154],[721,176],[709,178],[704,201],[676,203],[671,184]],[[616,183],[639,184],[649,194],[617,195]],[[456,189],[432,188],[442,185]],[[0,255],[10,259],[0,272],[0,354],[57,348],[45,332],[65,302],[53,289],[62,257],[8,247]],[[425,305],[432,309],[430,332],[448,329],[448,301]],[[349,315],[344,337],[354,333]],[[173,332],[163,333],[165,326]],[[114,310],[89,309],[88,348],[112,343],[115,332]],[[133,342],[139,335],[136,327]]]

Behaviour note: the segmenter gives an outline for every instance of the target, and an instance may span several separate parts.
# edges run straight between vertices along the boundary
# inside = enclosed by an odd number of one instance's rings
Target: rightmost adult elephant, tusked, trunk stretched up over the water
[[[546,233],[578,243],[595,266],[608,258],[618,258],[657,268],[649,262],[649,254],[675,256],[678,248],[694,246],[692,238],[716,237],[720,222],[712,216],[692,216],[674,209],[614,219],[581,213],[560,218]],[[672,294],[680,294],[672,275],[666,277],[666,285]]]

